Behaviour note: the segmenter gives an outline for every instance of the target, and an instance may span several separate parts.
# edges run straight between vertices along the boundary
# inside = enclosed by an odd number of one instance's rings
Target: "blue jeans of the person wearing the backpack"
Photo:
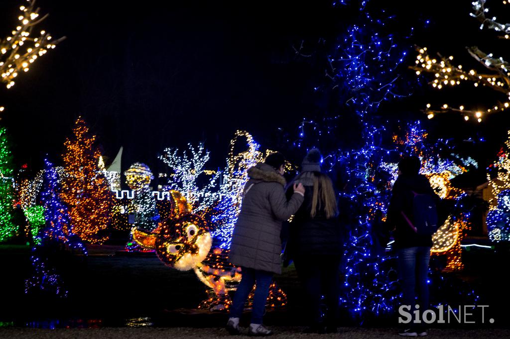
[[[420,314],[429,307],[428,262],[430,247],[416,246],[398,250],[398,273],[402,284],[402,305],[420,305]],[[418,300],[416,301],[416,298]],[[420,317],[421,319],[421,317]]]

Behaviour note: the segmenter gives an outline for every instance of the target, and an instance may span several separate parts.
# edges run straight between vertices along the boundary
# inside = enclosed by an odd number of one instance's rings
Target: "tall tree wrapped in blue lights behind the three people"
[[[377,113],[383,102],[409,95],[402,91],[400,72],[411,49],[397,45],[385,33],[385,20],[372,18],[365,5],[356,24],[327,53],[326,79],[315,87],[326,108],[303,119],[294,143],[321,149],[323,168],[336,179],[342,218],[350,226],[340,303],[360,321],[391,313],[400,294],[394,260],[386,257],[386,242],[379,236],[391,194],[391,176],[379,166],[398,158],[398,152]]]

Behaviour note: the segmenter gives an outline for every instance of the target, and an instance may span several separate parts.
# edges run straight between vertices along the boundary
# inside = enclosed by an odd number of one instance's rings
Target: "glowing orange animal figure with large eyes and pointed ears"
[[[179,192],[173,191],[172,196],[175,195],[179,195],[181,202],[185,201]],[[236,290],[241,281],[241,268],[228,263],[228,250],[213,247],[207,221],[196,214],[186,213],[186,210],[177,208],[173,216],[162,217],[153,232],[135,228],[133,240],[147,249],[156,249],[164,264],[180,271],[195,271],[200,281],[210,288],[209,298],[198,308],[226,309],[231,304],[228,291]],[[273,283],[268,305],[283,306],[286,302],[285,293]]]

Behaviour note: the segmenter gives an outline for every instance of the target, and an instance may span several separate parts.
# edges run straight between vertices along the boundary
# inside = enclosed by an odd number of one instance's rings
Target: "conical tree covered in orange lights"
[[[72,233],[89,243],[102,243],[109,237],[108,224],[114,197],[108,181],[99,171],[100,152],[95,136],[82,118],[73,129],[73,138],[65,142],[63,155],[66,178],[61,197],[69,207]]]

